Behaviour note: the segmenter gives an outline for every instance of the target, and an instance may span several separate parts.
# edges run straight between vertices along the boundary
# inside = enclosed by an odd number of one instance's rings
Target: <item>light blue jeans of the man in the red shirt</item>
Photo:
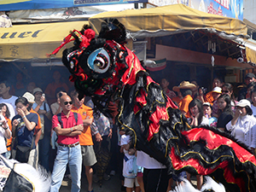
[[[55,165],[51,174],[50,192],[58,192],[61,188],[67,163],[72,177],[71,192],[80,191],[82,154],[80,145],[77,145],[73,148],[58,146]]]

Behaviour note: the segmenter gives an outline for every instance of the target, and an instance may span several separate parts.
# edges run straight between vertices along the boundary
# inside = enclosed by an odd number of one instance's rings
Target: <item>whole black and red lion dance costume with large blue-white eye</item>
[[[74,40],[74,46],[63,51],[62,61],[80,98],[91,96],[98,110],[131,135],[134,147],[166,165],[169,174],[208,175],[227,191],[256,191],[253,154],[215,128],[191,128],[125,47],[125,26],[116,19],[105,20],[98,38],[94,36],[90,26],[73,30],[53,52]],[[113,102],[118,103],[118,113],[111,108]]]

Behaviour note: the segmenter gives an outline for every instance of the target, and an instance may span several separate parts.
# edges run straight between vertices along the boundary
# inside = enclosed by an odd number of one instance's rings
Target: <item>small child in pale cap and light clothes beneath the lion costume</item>
[[[125,135],[124,131],[119,131],[121,135],[121,148],[120,151],[125,154],[123,176],[125,177],[126,192],[132,192],[134,184],[136,185],[136,192],[140,192],[140,186],[137,183],[137,165],[135,149],[130,149],[130,136]]]

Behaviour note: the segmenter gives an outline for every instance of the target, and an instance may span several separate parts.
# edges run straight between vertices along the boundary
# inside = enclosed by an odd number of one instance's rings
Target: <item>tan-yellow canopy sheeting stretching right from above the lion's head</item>
[[[117,18],[135,38],[207,28],[228,34],[247,35],[247,26],[241,20],[207,14],[183,4],[105,12],[90,17],[90,26],[99,32],[102,21],[108,18]]]

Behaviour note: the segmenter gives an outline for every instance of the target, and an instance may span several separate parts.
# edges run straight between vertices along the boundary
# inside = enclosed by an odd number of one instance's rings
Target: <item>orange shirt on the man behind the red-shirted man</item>
[[[80,108],[76,108],[73,106],[71,111],[81,114],[83,120],[86,119],[86,117],[88,116],[90,117],[90,119],[93,118],[92,108],[89,108],[84,104]],[[87,129],[84,128],[84,131],[82,132],[82,134],[79,135],[79,139],[80,139],[80,145],[93,145],[90,126],[88,126]]]

